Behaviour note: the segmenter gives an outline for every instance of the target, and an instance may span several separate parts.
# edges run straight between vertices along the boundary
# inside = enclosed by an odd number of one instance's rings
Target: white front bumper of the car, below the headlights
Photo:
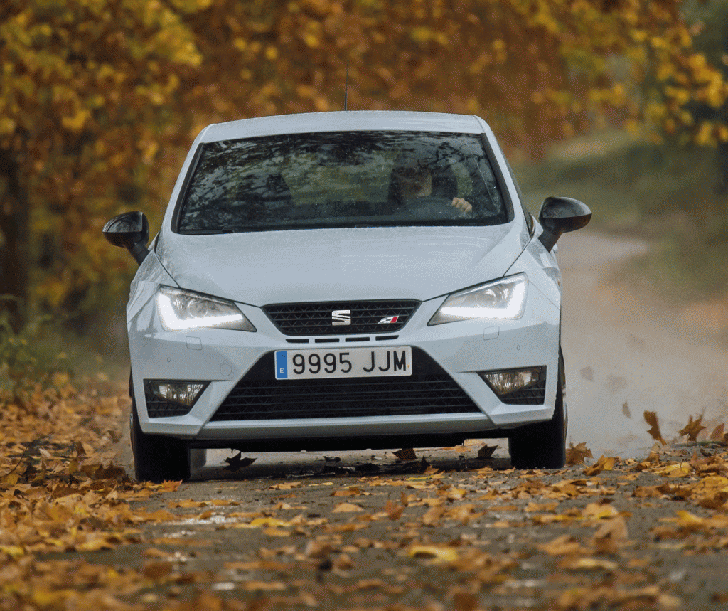
[[[223,329],[164,331],[155,311],[154,290],[150,283],[140,291],[146,301],[140,305],[138,299],[138,309],[130,312],[129,318],[133,393],[145,433],[173,435],[193,446],[258,450],[334,449],[337,444],[349,449],[392,447],[400,445],[396,442],[403,438],[420,442],[414,446],[427,446],[431,441],[505,436],[513,427],[553,415],[560,313],[534,284],[529,289],[526,312],[519,320],[467,320],[427,326],[444,301],[438,298],[422,302],[408,323],[394,334],[372,334],[357,341],[352,341],[351,336],[327,335],[325,343],[317,343],[316,339],[323,338],[314,336],[297,337],[295,344],[262,310],[243,304],[239,304],[240,309],[258,330],[255,333]],[[309,341],[301,344],[302,339]],[[413,349],[413,379],[417,380],[388,379],[387,384],[405,385],[397,387],[398,394],[395,387],[384,385],[380,399],[373,400],[371,393],[352,399],[357,389],[369,392],[373,379],[347,379],[334,382],[328,389],[341,393],[341,401],[328,409],[317,409],[322,398],[330,394],[326,385],[333,381],[299,381],[295,382],[300,387],[296,391],[298,399],[293,393],[286,403],[296,406],[294,414],[281,408],[281,401],[266,391],[288,385],[285,394],[293,392],[289,392],[292,382],[274,379],[275,350],[298,347],[325,351],[387,345]],[[547,371],[544,401],[540,404],[504,403],[478,374],[533,366],[545,366]],[[420,382],[427,378],[430,384],[434,374],[440,376],[444,386],[424,389]],[[144,382],[149,379],[209,384],[188,413],[149,417]],[[443,392],[449,393],[445,400],[430,401],[433,393],[440,397]],[[237,401],[229,399],[236,393]],[[421,393],[422,401],[416,400],[417,393]],[[264,400],[251,400],[253,395],[263,395]],[[410,395],[410,400],[390,405],[386,395]],[[231,401],[237,404],[232,410],[226,408]],[[267,407],[248,409],[250,403],[265,406],[266,401]],[[299,409],[300,403],[304,406]]]

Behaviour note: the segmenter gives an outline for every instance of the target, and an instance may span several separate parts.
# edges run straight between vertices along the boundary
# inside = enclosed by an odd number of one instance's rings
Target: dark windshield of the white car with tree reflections
[[[203,145],[178,232],[509,220],[478,135],[315,133]]]

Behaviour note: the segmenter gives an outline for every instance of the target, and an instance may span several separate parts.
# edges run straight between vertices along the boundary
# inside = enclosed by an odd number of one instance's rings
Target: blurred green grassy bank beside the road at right
[[[678,306],[728,300],[728,195],[714,149],[655,146],[622,133],[582,138],[515,174],[534,214],[549,195],[585,202],[590,229],[652,243],[622,277]]]

